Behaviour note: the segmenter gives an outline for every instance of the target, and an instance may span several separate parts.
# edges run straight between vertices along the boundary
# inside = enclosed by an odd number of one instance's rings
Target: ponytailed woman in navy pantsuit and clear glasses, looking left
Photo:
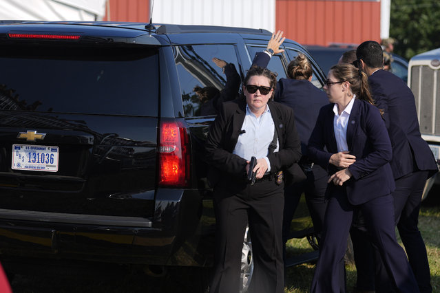
[[[367,76],[350,64],[331,67],[308,154],[328,169],[328,198],[319,259],[311,292],[345,292],[338,265],[344,258],[353,212],[364,215],[397,292],[419,292],[404,250],[397,243],[391,192],[390,138],[373,105]]]

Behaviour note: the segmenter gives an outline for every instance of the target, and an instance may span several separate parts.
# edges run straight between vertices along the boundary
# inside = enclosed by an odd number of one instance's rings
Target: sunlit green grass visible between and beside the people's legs
[[[431,285],[433,292],[440,292],[440,197],[438,190],[432,191],[430,196],[423,202],[419,216],[419,230],[426,243],[428,259],[431,270]],[[399,233],[397,232],[399,239]],[[399,239],[399,243],[401,243]],[[311,251],[306,239],[291,239],[287,246],[288,255],[300,254]],[[315,271],[315,263],[304,263],[287,269],[287,282],[284,292],[306,293],[310,292],[310,285]],[[347,292],[353,292],[356,282],[356,268],[348,263]]]

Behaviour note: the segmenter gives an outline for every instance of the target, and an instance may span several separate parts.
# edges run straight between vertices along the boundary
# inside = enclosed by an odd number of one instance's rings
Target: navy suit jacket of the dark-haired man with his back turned
[[[384,119],[392,144],[391,168],[395,179],[422,170],[437,172],[428,144],[421,138],[415,98],[401,78],[385,70],[368,77],[368,83]]]

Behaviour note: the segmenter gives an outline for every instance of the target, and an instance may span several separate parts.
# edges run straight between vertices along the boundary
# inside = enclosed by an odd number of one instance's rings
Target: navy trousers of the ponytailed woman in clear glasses
[[[344,292],[340,287],[338,265],[346,252],[346,241],[353,219],[353,210],[359,208],[368,224],[375,245],[384,259],[386,270],[400,292],[419,292],[415,287],[415,277],[406,261],[404,250],[395,237],[394,208],[391,195],[371,199],[352,206],[344,187],[335,188],[329,200],[324,221],[322,253],[312,283],[312,292]]]

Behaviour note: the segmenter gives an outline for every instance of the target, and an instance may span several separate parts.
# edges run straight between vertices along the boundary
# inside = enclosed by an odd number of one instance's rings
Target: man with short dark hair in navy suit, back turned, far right
[[[423,187],[427,178],[437,172],[437,164],[428,144],[421,138],[414,95],[399,77],[384,71],[379,43],[365,41],[357,47],[356,56],[353,64],[368,75],[373,99],[384,111],[390,135],[390,164],[396,184],[392,193],[395,223],[420,291],[432,292],[426,247],[417,224]],[[386,270],[378,263],[376,292],[389,292]]]

